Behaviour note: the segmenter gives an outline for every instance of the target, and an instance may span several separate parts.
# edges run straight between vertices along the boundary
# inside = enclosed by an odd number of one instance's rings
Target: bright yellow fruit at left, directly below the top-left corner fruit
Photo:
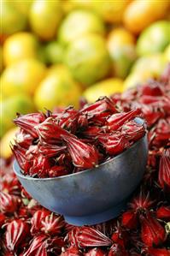
[[[15,33],[5,40],[3,59],[6,66],[29,57],[38,57],[38,39],[32,33]]]

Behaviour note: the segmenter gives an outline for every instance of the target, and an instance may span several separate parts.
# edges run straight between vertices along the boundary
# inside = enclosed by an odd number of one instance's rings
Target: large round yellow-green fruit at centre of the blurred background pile
[[[74,79],[86,86],[103,79],[110,68],[105,39],[97,34],[88,34],[74,40],[67,47],[65,63]]]

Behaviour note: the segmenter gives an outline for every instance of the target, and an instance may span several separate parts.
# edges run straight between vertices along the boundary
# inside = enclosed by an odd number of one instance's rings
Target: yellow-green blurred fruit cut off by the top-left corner
[[[26,15],[23,15],[12,1],[1,1],[1,33],[8,36],[25,27]]]

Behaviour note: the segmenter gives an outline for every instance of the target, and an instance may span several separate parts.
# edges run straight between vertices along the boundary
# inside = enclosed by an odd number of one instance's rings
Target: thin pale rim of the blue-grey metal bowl
[[[141,118],[140,118],[141,119]],[[143,120],[143,119],[142,119]],[[144,122],[144,120],[143,120]],[[16,176],[19,176],[21,177],[22,179],[25,179],[25,180],[32,180],[32,181],[55,181],[55,180],[61,180],[61,179],[67,179],[67,177],[71,177],[71,176],[79,176],[79,175],[83,175],[87,172],[91,172],[91,171],[95,171],[97,170],[99,167],[105,165],[105,164],[108,164],[112,161],[114,161],[115,159],[118,159],[118,158],[121,158],[122,156],[126,155],[128,152],[132,151],[132,149],[136,146],[138,146],[138,144],[142,141],[142,140],[146,140],[147,138],[147,131],[145,132],[144,136],[142,138],[140,138],[139,140],[137,140],[134,144],[132,144],[132,146],[130,146],[129,148],[127,148],[124,152],[121,152],[119,155],[113,157],[113,158],[110,158],[108,159],[108,161],[102,163],[102,164],[98,164],[97,167],[94,167],[92,169],[86,169],[86,170],[82,170],[82,171],[79,171],[77,173],[71,173],[71,174],[68,174],[66,176],[58,176],[58,177],[49,177],[49,178],[34,178],[32,176],[24,176],[22,173],[21,173],[21,168],[18,164],[18,162],[16,161],[16,159],[14,160],[14,164],[13,164],[13,170],[15,171],[15,174]],[[18,166],[16,166],[16,164]],[[20,168],[20,171],[17,170]]]

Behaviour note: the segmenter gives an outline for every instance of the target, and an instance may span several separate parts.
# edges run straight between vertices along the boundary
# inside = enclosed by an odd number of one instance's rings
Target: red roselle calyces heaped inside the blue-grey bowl
[[[81,110],[18,115],[12,150],[24,175],[56,177],[97,167],[139,140],[143,124],[134,118],[141,110],[120,112],[114,102],[99,98]]]

